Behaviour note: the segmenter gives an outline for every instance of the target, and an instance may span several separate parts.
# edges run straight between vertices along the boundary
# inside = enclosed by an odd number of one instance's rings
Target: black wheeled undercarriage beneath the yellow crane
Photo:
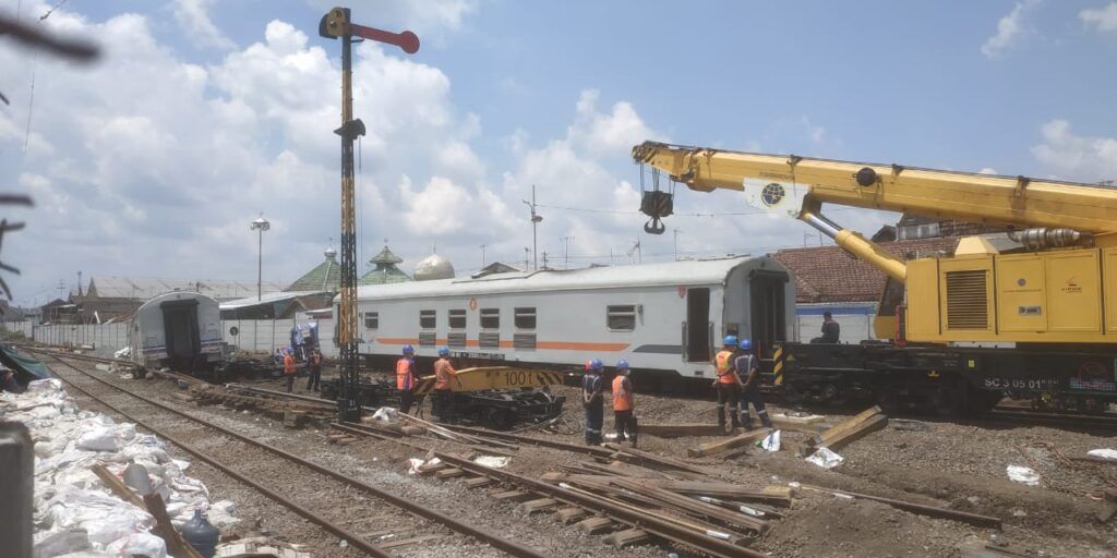
[[[776,357],[773,383],[789,402],[972,414],[1011,397],[1035,408],[1094,414],[1117,403],[1115,368],[1117,353],[1099,347],[794,343]]]

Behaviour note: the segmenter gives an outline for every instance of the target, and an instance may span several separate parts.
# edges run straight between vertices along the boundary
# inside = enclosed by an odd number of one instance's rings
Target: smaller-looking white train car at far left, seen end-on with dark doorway
[[[128,323],[128,347],[141,369],[212,371],[222,360],[218,301],[183,291],[147,300]]]

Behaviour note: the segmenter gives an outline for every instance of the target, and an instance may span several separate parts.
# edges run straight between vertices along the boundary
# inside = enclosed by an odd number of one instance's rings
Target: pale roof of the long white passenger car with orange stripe
[[[357,298],[360,300],[382,300],[626,287],[722,285],[726,281],[729,272],[741,266],[787,271],[780,262],[766,256],[735,257],[637,266],[517,271],[486,275],[478,278],[464,277],[433,281],[366,285],[357,288]],[[337,297],[335,297],[336,300]]]

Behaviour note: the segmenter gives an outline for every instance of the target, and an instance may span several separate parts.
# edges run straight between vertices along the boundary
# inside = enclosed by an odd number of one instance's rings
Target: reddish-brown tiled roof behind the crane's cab
[[[933,252],[953,253],[956,238],[934,238],[882,242],[880,246],[900,259]],[[792,248],[772,254],[795,278],[796,302],[876,301],[885,288],[885,273],[853,258],[836,246]]]

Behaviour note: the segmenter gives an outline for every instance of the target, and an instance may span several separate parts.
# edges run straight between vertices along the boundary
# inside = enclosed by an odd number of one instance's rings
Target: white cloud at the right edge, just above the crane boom
[[[1043,143],[1032,154],[1059,177],[1098,182],[1117,177],[1117,138],[1077,135],[1070,123],[1053,119],[1040,132]]]

